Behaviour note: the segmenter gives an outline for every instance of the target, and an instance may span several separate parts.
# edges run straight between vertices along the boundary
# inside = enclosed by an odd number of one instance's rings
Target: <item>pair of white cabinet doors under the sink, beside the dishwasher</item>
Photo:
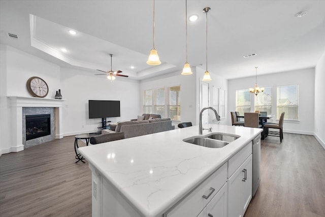
[[[252,198],[252,155],[228,179],[228,216],[241,217]]]

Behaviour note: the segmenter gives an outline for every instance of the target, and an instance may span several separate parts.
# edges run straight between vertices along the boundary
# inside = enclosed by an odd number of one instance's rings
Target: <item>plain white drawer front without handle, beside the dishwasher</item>
[[[238,151],[228,161],[228,178],[238,169],[238,167],[248,158],[252,153],[252,142],[249,142],[245,147]]]

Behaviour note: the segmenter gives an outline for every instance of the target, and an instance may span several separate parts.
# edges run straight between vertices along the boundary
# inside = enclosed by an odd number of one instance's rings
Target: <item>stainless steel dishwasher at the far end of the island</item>
[[[261,134],[253,139],[253,181],[252,196],[255,195],[261,181]]]

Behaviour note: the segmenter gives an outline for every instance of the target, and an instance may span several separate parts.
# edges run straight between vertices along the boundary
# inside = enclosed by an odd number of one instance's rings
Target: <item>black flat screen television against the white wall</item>
[[[120,101],[89,100],[89,118],[120,117]]]

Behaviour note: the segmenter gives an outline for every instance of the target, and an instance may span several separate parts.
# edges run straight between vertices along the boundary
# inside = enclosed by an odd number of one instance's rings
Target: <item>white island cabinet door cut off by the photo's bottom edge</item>
[[[212,198],[198,217],[226,217],[227,216],[227,183]]]

